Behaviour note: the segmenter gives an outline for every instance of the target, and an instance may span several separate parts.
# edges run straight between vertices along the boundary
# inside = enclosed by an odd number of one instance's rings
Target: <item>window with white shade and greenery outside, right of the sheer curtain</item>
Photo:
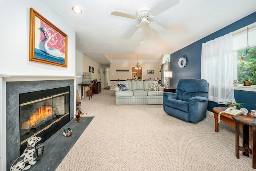
[[[244,80],[256,85],[256,23],[233,33],[233,77],[238,84]],[[253,87],[253,86],[252,86]]]

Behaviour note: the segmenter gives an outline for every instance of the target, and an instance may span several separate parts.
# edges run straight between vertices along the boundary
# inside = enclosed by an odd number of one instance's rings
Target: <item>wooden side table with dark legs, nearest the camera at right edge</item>
[[[243,151],[243,155],[252,154],[252,168],[256,169],[256,124],[251,123],[255,117],[251,115],[232,116],[236,121],[236,158],[239,159],[239,151]],[[243,146],[239,144],[239,125],[243,126]],[[252,127],[252,147],[249,148],[249,127]]]

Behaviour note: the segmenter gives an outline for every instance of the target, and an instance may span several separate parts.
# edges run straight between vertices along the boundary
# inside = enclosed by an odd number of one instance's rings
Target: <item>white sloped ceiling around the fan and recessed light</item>
[[[256,0],[180,0],[153,18],[168,30],[167,34],[143,24],[126,39],[138,20],[113,16],[111,12],[136,15],[138,8],[149,6],[154,10],[166,0],[44,1],[76,31],[76,50],[100,64],[122,60],[134,63],[137,54],[140,64],[156,64],[162,54],[172,54],[256,11]],[[82,14],[72,12],[73,6],[80,6]]]

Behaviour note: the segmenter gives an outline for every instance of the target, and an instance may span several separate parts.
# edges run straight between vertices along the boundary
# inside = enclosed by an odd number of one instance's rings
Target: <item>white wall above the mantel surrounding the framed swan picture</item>
[[[75,76],[76,33],[57,13],[42,0],[0,3],[0,75]],[[68,35],[67,68],[29,61],[30,7]]]

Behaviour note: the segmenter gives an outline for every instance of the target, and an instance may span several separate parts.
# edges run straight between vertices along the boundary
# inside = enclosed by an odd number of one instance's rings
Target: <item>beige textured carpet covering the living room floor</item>
[[[115,105],[114,90],[81,100],[94,116],[56,171],[255,171],[235,155],[235,129],[214,118],[188,123],[162,105]]]

